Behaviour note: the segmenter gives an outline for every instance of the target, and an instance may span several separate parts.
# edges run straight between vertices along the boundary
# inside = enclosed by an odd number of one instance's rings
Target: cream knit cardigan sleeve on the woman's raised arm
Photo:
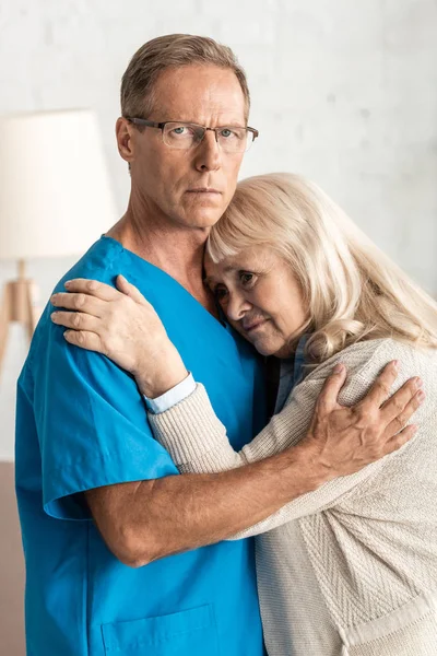
[[[375,341],[381,344],[382,340]],[[335,356],[328,365],[318,367],[293,390],[283,410],[274,415],[263,431],[239,453],[231,446],[226,430],[216,418],[208,394],[200,384],[177,406],[161,414],[149,415],[152,430],[181,472],[217,472],[268,458],[296,445],[306,435],[322,385],[333,366],[340,361],[345,364],[350,375],[339,401],[344,406],[358,402],[368,391],[380,370],[390,360],[402,358],[399,349],[389,348],[385,342],[393,343],[392,340],[383,340],[376,350],[375,347],[371,350],[367,347],[358,350],[358,353],[354,348],[351,348],[352,352],[347,353],[346,349],[342,352],[341,359]],[[369,343],[371,342],[366,342]],[[410,370],[409,366],[402,366],[402,374],[395,382],[393,391],[414,375],[414,371]],[[340,497],[380,471],[393,455],[395,454],[390,454],[356,473],[327,482],[318,490],[295,499],[267,519],[239,531],[231,539],[265,532],[293,519],[334,506]]]

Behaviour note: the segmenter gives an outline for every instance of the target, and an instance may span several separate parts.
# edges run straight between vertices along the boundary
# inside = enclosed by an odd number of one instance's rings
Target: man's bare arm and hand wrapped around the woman
[[[395,375],[389,366],[378,377],[370,397],[376,408],[386,400]],[[349,408],[341,414],[336,396],[343,383],[344,372],[327,379],[306,438],[281,454],[220,473],[172,476],[86,492],[108,548],[126,564],[142,566],[217,542],[302,494],[392,453],[414,434],[414,426],[409,426],[392,436],[399,430],[395,418],[401,415],[406,423],[417,408],[412,401],[414,382],[385,405],[377,422],[375,414],[366,420],[362,412],[352,420]]]

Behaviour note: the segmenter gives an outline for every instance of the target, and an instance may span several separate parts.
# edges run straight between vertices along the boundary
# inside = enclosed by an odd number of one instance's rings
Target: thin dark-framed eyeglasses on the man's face
[[[238,128],[234,126],[206,128],[197,124],[175,120],[155,122],[145,118],[126,118],[137,126],[158,128],[163,134],[163,142],[176,150],[189,150],[199,145],[206,130],[211,130],[215,132],[215,141],[225,153],[244,153],[249,150],[259,134],[258,130],[253,128]]]

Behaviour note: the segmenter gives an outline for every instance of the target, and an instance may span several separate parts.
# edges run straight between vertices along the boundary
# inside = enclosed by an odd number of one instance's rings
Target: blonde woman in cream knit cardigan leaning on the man
[[[345,405],[359,400],[393,359],[402,377],[418,374],[428,391],[417,434],[398,453],[234,537],[258,536],[269,655],[435,656],[437,305],[322,191],[286,174],[240,183],[210,234],[205,271],[227,320],[260,353],[281,359],[279,413],[237,454],[205,389],[193,384],[176,406],[149,414],[181,471],[238,467],[299,442],[339,363],[349,371],[340,397]],[[141,306],[116,329],[137,344],[134,366],[142,358],[145,366],[147,342],[160,350],[167,344],[163,376],[181,367],[153,308],[139,330],[146,304],[126,282],[119,289]],[[62,324],[59,316],[56,321]],[[93,348],[102,350],[98,336],[108,328],[93,321]],[[109,356],[117,360],[110,350]]]

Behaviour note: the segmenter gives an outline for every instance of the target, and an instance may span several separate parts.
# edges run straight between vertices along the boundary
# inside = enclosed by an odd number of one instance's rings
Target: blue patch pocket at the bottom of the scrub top
[[[218,656],[211,605],[131,622],[102,624],[105,654],[111,656]]]

